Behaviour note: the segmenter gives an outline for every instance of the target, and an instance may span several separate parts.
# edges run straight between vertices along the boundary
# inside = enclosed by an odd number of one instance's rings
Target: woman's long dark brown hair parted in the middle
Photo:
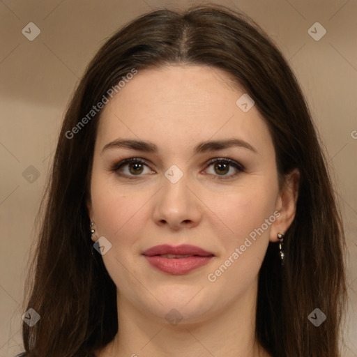
[[[294,74],[266,33],[215,4],[146,13],[114,33],[86,68],[68,105],[43,202],[26,301],[40,321],[22,325],[26,356],[93,356],[118,332],[116,286],[102,257],[92,255],[86,208],[100,111],[77,124],[133,68],[171,63],[220,68],[236,78],[268,124],[279,176],[294,168],[301,173],[296,216],[284,239],[286,263],[280,266],[278,245],[269,243],[259,272],[258,342],[275,357],[340,356],[344,231],[317,131]],[[308,319],[315,308],[327,316],[319,327]]]

